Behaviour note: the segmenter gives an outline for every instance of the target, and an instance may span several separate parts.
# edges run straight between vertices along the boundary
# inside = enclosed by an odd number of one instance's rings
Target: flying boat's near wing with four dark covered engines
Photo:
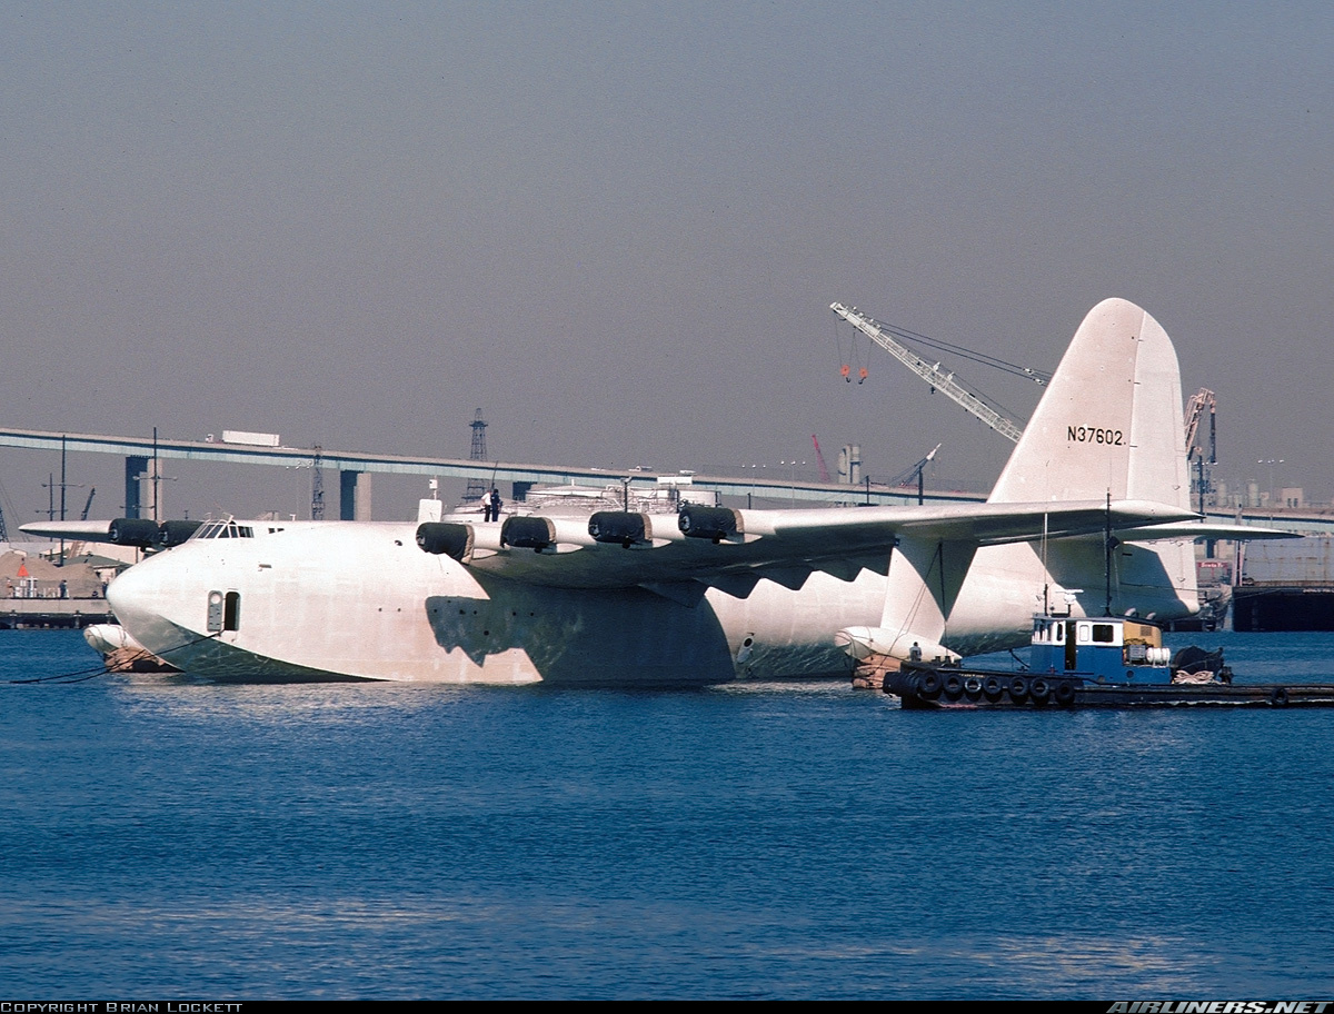
[[[1197,515],[1161,503],[1110,506],[1115,531]],[[455,518],[419,526],[418,543],[479,574],[551,587],[668,590],[712,584],[748,594],[762,579],[800,587],[812,571],[852,580],[863,568],[884,574],[900,536],[991,546],[1106,531],[1105,502],[976,503],[948,507],[806,510],[683,508],[675,515],[595,514],[592,519],[511,516],[504,524]],[[596,532],[596,534],[595,534]],[[668,595],[676,598],[675,594]]]

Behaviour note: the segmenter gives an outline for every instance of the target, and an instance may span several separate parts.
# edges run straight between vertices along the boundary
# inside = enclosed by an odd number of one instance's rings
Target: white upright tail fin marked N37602
[[[1109,494],[1190,507],[1177,351],[1125,299],[1089,311],[988,502]]]

